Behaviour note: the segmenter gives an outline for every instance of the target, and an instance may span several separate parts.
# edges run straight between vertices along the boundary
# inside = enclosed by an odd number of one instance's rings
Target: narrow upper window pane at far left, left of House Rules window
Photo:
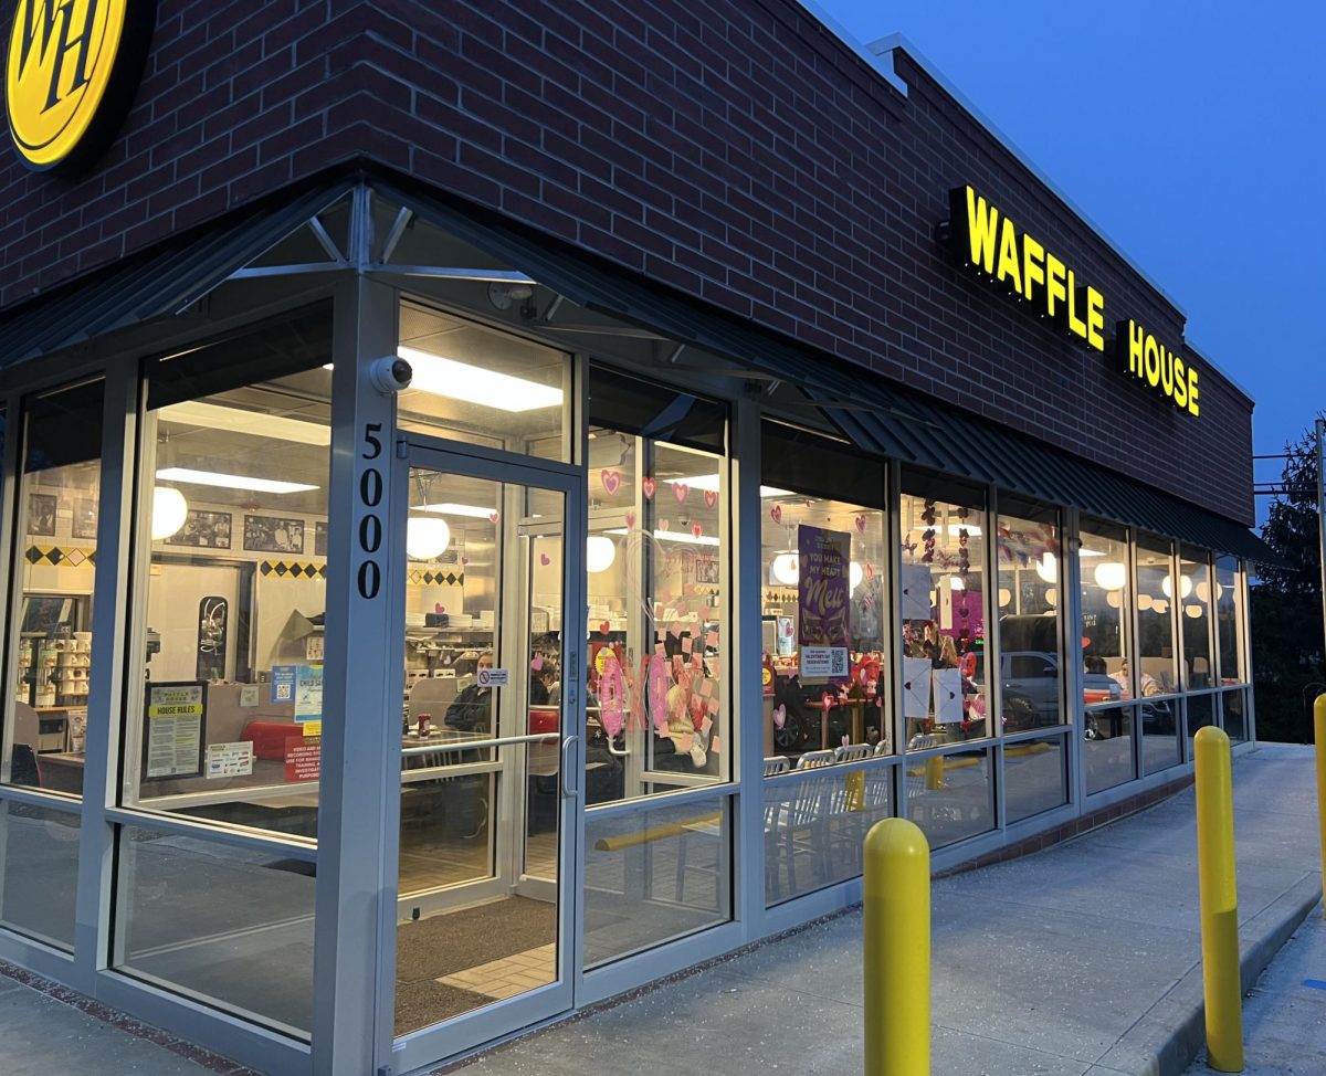
[[[11,587],[13,784],[82,792],[101,497],[102,382],[28,400]]]

